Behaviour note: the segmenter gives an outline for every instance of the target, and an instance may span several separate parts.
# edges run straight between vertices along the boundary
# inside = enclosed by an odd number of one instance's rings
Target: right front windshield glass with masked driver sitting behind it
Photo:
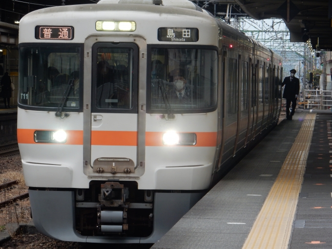
[[[215,50],[152,48],[151,111],[213,108],[217,104],[217,62]]]

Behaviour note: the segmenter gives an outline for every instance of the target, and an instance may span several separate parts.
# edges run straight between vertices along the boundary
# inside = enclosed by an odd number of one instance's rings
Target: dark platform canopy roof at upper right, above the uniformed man
[[[331,1],[331,0],[330,0]],[[235,0],[256,20],[282,18],[290,30],[290,42],[311,39],[312,48],[332,50],[332,22],[328,0]],[[308,35],[308,36],[304,36]]]

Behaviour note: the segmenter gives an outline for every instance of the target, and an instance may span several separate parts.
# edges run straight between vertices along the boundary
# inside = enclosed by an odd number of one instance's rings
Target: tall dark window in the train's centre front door
[[[137,50],[135,44],[94,46],[93,112],[137,112]]]

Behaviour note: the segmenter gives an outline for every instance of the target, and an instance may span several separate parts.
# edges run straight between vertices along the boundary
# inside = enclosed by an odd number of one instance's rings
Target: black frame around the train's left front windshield
[[[21,48],[29,47],[79,47],[80,48],[80,94],[79,94],[79,103],[80,106],[78,108],[70,108],[64,107],[63,112],[83,112],[83,71],[84,71],[84,44],[83,43],[61,43],[61,42],[26,42],[20,43],[18,46],[19,49],[19,89],[20,89],[20,77],[21,77]],[[17,96],[17,103],[18,107],[24,110],[33,110],[33,111],[54,111],[58,110],[58,106],[56,107],[49,107],[49,106],[35,106],[35,105],[28,105],[28,104],[21,104],[20,103],[20,91],[18,92]],[[60,103],[59,103],[60,104]]]

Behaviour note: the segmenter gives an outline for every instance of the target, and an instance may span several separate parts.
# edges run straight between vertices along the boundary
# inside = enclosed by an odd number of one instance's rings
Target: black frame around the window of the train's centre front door
[[[96,104],[96,83],[97,83],[97,50],[98,48],[132,48],[133,49],[133,98],[132,107],[129,109],[120,108],[98,108]],[[96,42],[92,46],[92,68],[91,68],[91,112],[93,113],[138,113],[138,84],[139,84],[139,47],[133,42]],[[136,73],[135,73],[136,72]],[[94,77],[94,75],[96,77]]]

